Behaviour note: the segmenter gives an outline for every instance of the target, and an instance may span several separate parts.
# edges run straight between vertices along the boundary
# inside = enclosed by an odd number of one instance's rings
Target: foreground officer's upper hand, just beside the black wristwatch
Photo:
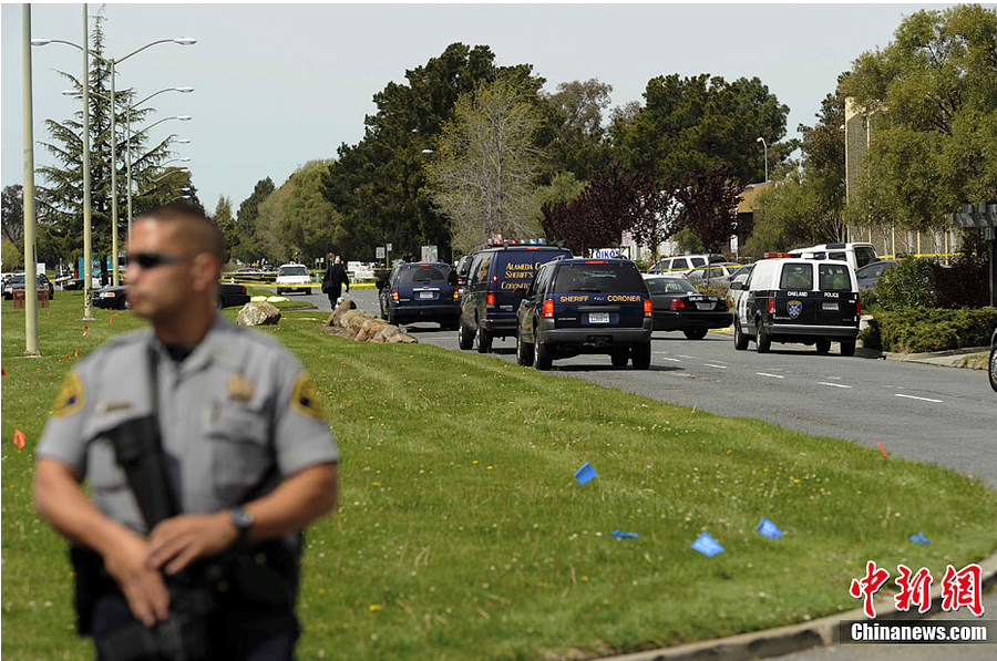
[[[162,521],[148,536],[146,566],[174,575],[197,558],[216,556],[232,546],[238,530],[227,510],[182,514]]]

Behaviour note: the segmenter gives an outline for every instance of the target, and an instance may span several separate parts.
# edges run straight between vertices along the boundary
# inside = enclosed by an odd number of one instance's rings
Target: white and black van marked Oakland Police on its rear
[[[841,342],[842,355],[855,354],[859,286],[846,261],[769,258],[756,262],[747,282],[730,283],[736,295],[734,349],[754,340],[759,353],[772,342],[816,345],[828,353]]]

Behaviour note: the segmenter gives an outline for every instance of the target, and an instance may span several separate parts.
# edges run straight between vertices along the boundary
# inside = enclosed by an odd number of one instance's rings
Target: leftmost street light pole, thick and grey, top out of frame
[[[31,91],[31,6],[24,3],[23,45],[21,69],[23,73],[24,138],[24,355],[40,357],[38,350],[38,261],[34,254],[34,106]],[[30,296],[29,296],[30,295]]]

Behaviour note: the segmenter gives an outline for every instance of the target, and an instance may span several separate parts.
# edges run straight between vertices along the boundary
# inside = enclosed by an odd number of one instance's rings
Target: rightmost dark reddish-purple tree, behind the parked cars
[[[669,231],[689,229],[708,252],[719,252],[736,234],[744,231],[738,221],[738,203],[743,185],[733,171],[688,173],[675,192],[680,210]]]

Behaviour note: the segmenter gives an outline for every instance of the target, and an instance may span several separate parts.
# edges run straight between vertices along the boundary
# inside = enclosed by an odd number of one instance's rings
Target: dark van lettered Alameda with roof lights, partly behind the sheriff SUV
[[[461,297],[458,342],[469,350],[477,339],[479,353],[492,349],[493,338],[516,334],[516,290],[533,282],[536,270],[555,257],[571,257],[556,246],[497,246],[474,254]]]

